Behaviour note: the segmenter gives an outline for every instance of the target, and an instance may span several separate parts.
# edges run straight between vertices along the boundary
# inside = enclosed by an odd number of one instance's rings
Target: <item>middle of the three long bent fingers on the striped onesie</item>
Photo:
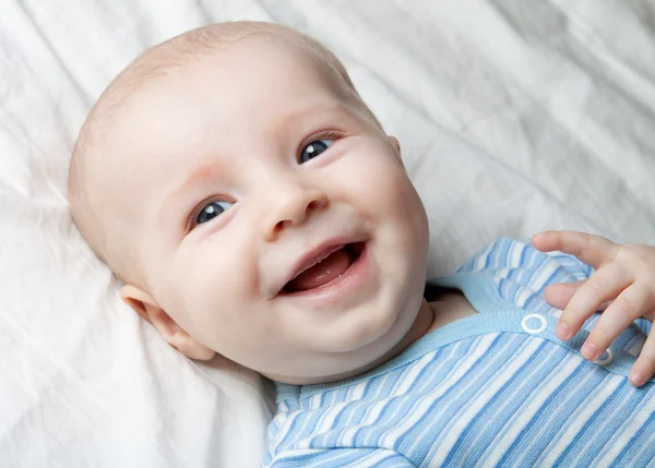
[[[636,319],[651,308],[651,292],[640,284],[628,287],[607,308],[582,347],[582,356],[593,361]]]

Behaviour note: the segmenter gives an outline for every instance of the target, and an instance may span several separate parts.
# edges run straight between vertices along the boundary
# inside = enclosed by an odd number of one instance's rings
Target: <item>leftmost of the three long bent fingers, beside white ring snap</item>
[[[580,287],[564,308],[555,327],[557,336],[560,339],[572,338],[604,302],[619,296],[632,284],[632,280],[633,278],[618,263],[598,269]]]

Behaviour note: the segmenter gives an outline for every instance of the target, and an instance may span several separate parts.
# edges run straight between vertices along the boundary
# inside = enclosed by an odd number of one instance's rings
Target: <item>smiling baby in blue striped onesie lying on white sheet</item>
[[[549,231],[426,280],[398,142],[307,36],[225,23],[145,52],[86,119],[69,197],[164,339],[276,382],[264,466],[655,459],[655,249]]]

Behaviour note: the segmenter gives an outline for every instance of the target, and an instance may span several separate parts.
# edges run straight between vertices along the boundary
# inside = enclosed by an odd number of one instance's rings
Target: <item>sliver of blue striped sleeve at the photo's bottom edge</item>
[[[386,448],[308,448],[276,454],[266,467],[416,468],[406,457]]]

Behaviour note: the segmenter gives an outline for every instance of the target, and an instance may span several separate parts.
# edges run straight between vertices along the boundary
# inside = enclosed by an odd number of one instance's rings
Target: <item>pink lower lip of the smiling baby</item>
[[[347,295],[354,293],[359,287],[361,287],[361,285],[370,275],[370,269],[371,261],[369,248],[368,243],[364,243],[361,252],[353,262],[353,264],[350,264],[348,269],[331,281],[317,288],[306,289],[302,291],[285,292],[283,290],[279,296],[289,299],[308,300],[312,301],[313,303],[321,304],[335,302]]]

